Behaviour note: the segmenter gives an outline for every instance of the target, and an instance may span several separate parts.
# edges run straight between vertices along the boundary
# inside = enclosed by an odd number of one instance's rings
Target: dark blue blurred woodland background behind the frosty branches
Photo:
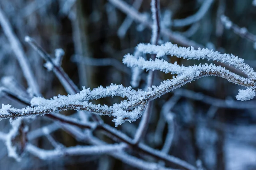
[[[145,20],[151,20],[150,0],[122,1],[137,8]],[[206,4],[209,4],[209,7],[203,7]],[[132,71],[122,64],[122,57],[128,53],[133,54],[137,44],[148,43],[151,39],[151,30],[147,26],[131,20],[111,3],[111,0],[0,0],[0,8],[20,40],[40,85],[40,92],[47,99],[58,94],[67,95],[67,92],[52,71],[47,71],[44,67],[44,59],[25,42],[25,36],[34,38],[51,57],[55,56],[55,49],[62,48],[65,52],[62,68],[80,89],[82,86],[105,87],[111,83],[131,86]],[[180,35],[180,39],[192,40],[201,47],[221,53],[232,53],[256,68],[256,47],[253,48],[256,41],[239,36],[221,23],[221,15],[224,14],[237,26],[256,34],[256,6],[253,6],[252,0],[160,0],[160,9],[161,28]],[[178,19],[194,15],[200,10],[203,14],[199,20],[186,26],[175,26]],[[189,43],[184,45],[175,42],[166,35],[160,36],[159,43],[169,41],[180,46],[190,46]],[[166,60],[172,63],[177,61],[183,65],[208,62],[169,56]],[[141,79],[134,89],[145,88],[146,75],[146,71],[141,72]],[[156,75],[154,85],[159,85],[163,79],[172,79],[172,75],[160,71],[156,71]],[[0,77],[2,86],[9,80],[27,88],[26,79],[1,26]],[[10,90],[12,88],[15,86],[10,87]],[[205,77],[156,99],[144,143],[161,149],[166,136],[171,134],[173,137],[170,155],[191,164],[196,163],[198,167],[207,170],[255,170],[256,104],[254,99],[248,102],[236,101],[235,96],[239,88],[241,87],[225,79]],[[17,108],[25,107],[5,95],[1,96],[0,102]],[[120,99],[113,97],[93,102],[112,105],[120,102]],[[169,107],[170,103],[173,104],[172,107]],[[166,110],[171,119],[165,119],[163,112]],[[66,115],[73,113],[74,111],[63,112]],[[102,119],[114,126],[111,117],[102,116]],[[117,128],[132,137],[139,122],[140,120],[131,124],[126,122]],[[44,116],[37,116],[29,122],[29,132],[51,123],[52,121]],[[1,121],[0,129],[8,132],[9,120]],[[67,147],[81,144],[63,130],[53,131],[52,137]],[[104,141],[109,140],[101,134],[96,135]],[[45,136],[31,141],[41,148],[52,149]],[[29,153],[23,153],[22,161],[17,162],[8,157],[4,142],[0,142],[0,169],[135,168],[107,155],[64,157],[44,161]]]

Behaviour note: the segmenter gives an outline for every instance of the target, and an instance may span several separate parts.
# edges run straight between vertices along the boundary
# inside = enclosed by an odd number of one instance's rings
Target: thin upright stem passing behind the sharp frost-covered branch
[[[157,45],[159,36],[160,36],[160,2],[159,0],[151,0],[151,12],[152,12],[152,19],[153,19],[153,26],[152,26],[152,35],[151,35],[151,44]],[[154,60],[156,55],[151,55],[151,59]],[[154,82],[154,72],[149,71],[148,73],[148,80],[147,80],[147,87],[151,87]],[[139,143],[140,140],[143,139],[145,136],[149,121],[152,114],[152,105],[153,101],[149,101],[146,107],[145,112],[143,113],[142,119],[140,120],[139,127],[134,136],[134,143]]]

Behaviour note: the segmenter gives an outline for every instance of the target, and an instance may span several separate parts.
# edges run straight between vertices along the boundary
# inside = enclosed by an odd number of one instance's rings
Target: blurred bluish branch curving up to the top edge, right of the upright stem
[[[184,19],[173,20],[172,26],[183,27],[198,22],[205,16],[206,12],[209,11],[209,8],[212,5],[213,1],[214,0],[204,0],[201,8],[198,10],[197,13]]]

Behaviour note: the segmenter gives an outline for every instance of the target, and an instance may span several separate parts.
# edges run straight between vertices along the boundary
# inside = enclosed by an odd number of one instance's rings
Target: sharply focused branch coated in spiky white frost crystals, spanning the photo
[[[175,88],[185,85],[186,83],[192,82],[195,79],[206,76],[222,77],[237,85],[247,87],[249,90],[245,90],[242,93],[239,91],[237,99],[251,99],[255,95],[256,73],[252,68],[250,68],[250,66],[243,62],[243,59],[233,55],[220,54],[208,49],[195,50],[194,48],[179,48],[171,43],[166,43],[161,46],[140,44],[137,48],[139,51],[143,51],[144,53],[156,54],[157,57],[169,54],[187,59],[221,61],[240,68],[248,75],[248,78],[241,77],[221,66],[215,66],[213,64],[185,67],[177,65],[177,63],[168,63],[163,59],[145,61],[143,58],[137,59],[128,54],[123,60],[123,62],[128,66],[136,66],[147,70],[160,70],[166,73],[177,74],[177,77],[165,80],[157,87],[152,86],[148,91],[134,91],[131,87],[125,88],[122,85],[110,85],[106,88],[95,88],[92,91],[89,88],[84,88],[78,94],[53,97],[53,99],[50,100],[41,97],[34,97],[31,101],[32,107],[16,109],[11,108],[11,105],[3,105],[0,110],[0,118],[7,119],[39,114],[43,115],[57,113],[64,110],[84,110],[99,115],[114,116],[116,118],[113,121],[116,125],[120,125],[125,121],[133,122],[140,118],[149,101],[154,100]],[[94,105],[89,102],[91,99],[100,99],[107,96],[120,96],[126,99],[122,100],[119,104],[114,104],[112,106]]]

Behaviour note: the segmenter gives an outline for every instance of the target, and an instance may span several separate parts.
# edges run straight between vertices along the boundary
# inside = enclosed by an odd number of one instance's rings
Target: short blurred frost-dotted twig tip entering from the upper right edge
[[[225,26],[226,29],[231,29],[235,34],[239,35],[246,40],[253,42],[253,47],[256,48],[256,35],[250,33],[247,28],[240,28],[236,24],[234,24],[228,17],[225,15],[221,15],[221,22]]]

